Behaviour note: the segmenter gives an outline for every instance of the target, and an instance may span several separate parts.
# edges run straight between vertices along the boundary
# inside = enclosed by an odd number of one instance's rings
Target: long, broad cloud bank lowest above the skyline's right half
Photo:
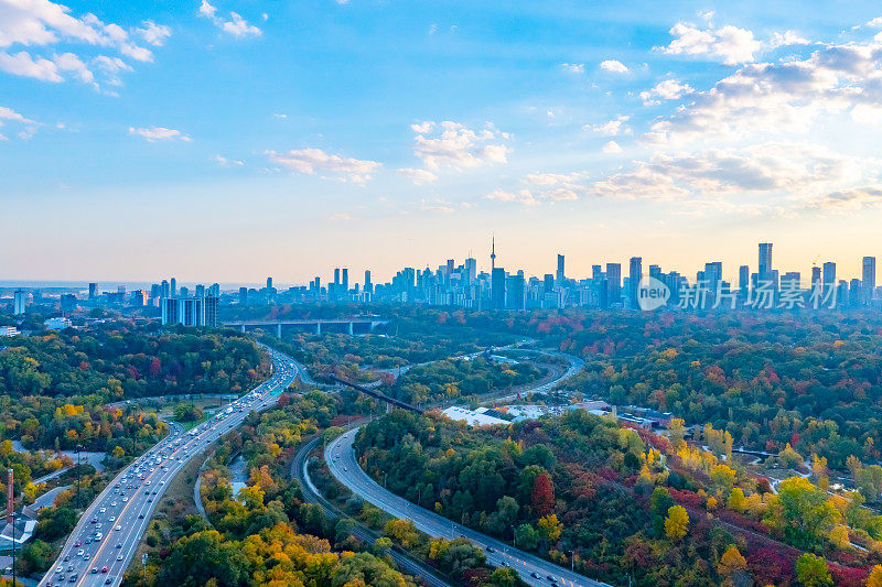
[[[677,200],[692,211],[749,214],[845,208],[882,203],[882,187],[841,187],[880,170],[880,160],[856,160],[813,143],[770,142],[656,154],[594,181],[582,172],[531,173],[523,180],[526,188],[496,191],[485,198],[529,205],[585,197]],[[755,202],[757,196],[762,202]]]

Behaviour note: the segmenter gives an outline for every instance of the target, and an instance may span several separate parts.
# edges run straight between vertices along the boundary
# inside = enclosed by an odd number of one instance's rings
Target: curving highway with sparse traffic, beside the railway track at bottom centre
[[[331,474],[365,501],[369,501],[396,518],[412,520],[418,530],[426,532],[430,536],[440,536],[448,540],[461,536],[469,539],[484,550],[488,564],[514,568],[528,585],[548,586],[557,584],[566,585],[567,587],[599,587],[605,585],[544,561],[538,556],[513,548],[504,542],[452,522],[434,512],[410,503],[391,491],[387,491],[368,477],[358,465],[352,446],[357,432],[358,430],[355,428],[336,437],[325,448],[324,458],[331,469]]]

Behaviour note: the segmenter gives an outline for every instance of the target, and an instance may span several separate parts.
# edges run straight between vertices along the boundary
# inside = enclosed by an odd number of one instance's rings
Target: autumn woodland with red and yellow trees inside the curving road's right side
[[[398,411],[356,452],[389,490],[613,585],[857,587],[882,562],[882,518],[857,492],[826,493],[824,467],[773,493],[675,428],[577,410],[482,430]]]

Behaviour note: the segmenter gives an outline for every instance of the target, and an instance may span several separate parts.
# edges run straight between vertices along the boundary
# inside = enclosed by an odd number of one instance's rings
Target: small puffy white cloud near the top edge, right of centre
[[[668,55],[707,55],[719,58],[727,65],[751,63],[763,44],[746,29],[725,25],[717,30],[696,29],[678,22],[670,30],[674,41],[664,47],[655,47]]]

